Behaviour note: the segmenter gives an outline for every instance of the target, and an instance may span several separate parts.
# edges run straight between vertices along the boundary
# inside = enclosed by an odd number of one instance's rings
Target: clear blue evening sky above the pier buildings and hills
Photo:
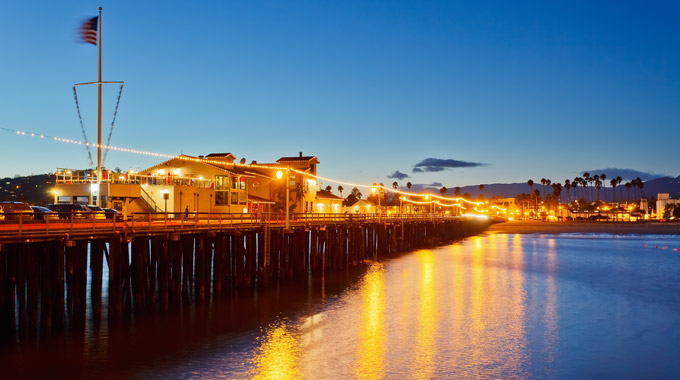
[[[111,145],[302,151],[323,176],[449,188],[680,174],[678,2],[4,1],[0,128],[82,140],[72,86],[96,80],[97,48],[76,32],[99,6],[104,80],[125,81]],[[106,140],[118,88],[104,95]],[[94,141],[96,88],[79,99]],[[0,141],[0,177],[89,167],[82,146]],[[453,160],[485,165],[427,171]]]

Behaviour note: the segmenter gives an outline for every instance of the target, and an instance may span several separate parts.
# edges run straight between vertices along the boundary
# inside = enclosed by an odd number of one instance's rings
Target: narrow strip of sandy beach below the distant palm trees
[[[562,234],[604,233],[614,235],[680,235],[680,223],[656,222],[541,222],[509,221],[489,227],[488,233]]]

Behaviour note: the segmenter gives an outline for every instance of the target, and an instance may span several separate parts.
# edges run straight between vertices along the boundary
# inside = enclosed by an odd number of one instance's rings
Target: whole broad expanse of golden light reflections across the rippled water
[[[343,303],[268,332],[255,378],[532,377],[535,329],[545,334],[541,360],[556,361],[557,252],[526,239],[472,237],[373,264]],[[547,280],[527,274],[541,264]],[[533,375],[554,376],[544,370]]]

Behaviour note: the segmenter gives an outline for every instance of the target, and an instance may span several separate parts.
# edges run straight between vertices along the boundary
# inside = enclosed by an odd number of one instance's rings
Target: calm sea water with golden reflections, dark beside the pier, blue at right
[[[667,236],[483,235],[92,329],[3,365],[140,379],[677,379],[679,248]]]

